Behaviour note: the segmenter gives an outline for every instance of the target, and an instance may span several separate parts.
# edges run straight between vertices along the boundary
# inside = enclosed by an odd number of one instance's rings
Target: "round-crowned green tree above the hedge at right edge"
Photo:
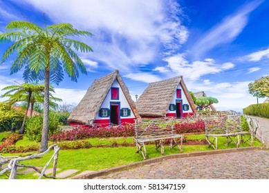
[[[248,84],[248,92],[252,94],[252,96],[257,96],[258,98],[269,97],[269,76],[261,77],[261,79],[257,79],[254,83]]]

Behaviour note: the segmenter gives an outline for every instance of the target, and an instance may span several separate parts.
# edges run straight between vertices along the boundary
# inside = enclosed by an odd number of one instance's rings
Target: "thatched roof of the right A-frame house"
[[[140,116],[165,116],[178,84],[180,84],[187,97],[192,111],[196,112],[192,96],[187,90],[183,77],[180,76],[150,83],[148,88],[140,95],[138,101],[136,101],[136,108]]]

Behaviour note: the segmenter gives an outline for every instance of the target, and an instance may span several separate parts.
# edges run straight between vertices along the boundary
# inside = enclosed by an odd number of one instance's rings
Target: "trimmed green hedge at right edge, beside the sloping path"
[[[249,105],[247,108],[243,108],[243,113],[269,118],[269,103]]]

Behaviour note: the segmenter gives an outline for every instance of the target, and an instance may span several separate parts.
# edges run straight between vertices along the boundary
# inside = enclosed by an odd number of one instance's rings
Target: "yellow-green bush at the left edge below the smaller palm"
[[[12,123],[19,129],[23,120],[23,111],[15,110],[8,103],[0,102],[0,132],[10,131]]]

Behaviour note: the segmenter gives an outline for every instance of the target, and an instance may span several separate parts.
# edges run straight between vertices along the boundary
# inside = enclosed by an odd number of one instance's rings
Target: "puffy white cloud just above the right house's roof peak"
[[[165,67],[156,67],[155,71],[167,72],[167,76],[179,76],[183,75],[185,79],[197,80],[206,74],[217,74],[234,68],[233,63],[223,63],[221,65],[216,64],[214,59],[205,59],[205,61],[194,61],[189,63],[185,58],[184,54],[176,54],[172,57],[164,59],[168,65]],[[168,73],[169,72],[169,73]]]

